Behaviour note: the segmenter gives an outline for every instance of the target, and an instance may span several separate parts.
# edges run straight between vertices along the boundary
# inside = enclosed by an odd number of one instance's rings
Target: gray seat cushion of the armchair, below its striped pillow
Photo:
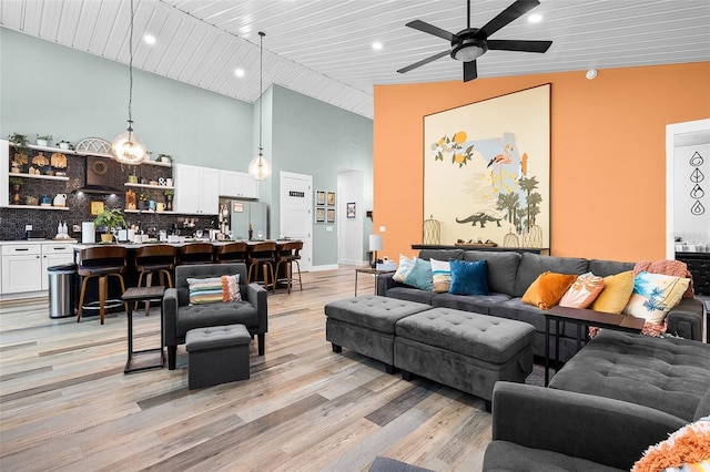
[[[187,331],[205,326],[244,325],[258,326],[258,314],[250,302],[240,300],[226,304],[191,305],[180,308],[176,336],[183,338]]]

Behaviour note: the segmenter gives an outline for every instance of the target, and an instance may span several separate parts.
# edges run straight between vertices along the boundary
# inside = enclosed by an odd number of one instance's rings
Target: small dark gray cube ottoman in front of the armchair
[[[187,331],[187,388],[248,379],[248,343],[244,325],[213,326]]]

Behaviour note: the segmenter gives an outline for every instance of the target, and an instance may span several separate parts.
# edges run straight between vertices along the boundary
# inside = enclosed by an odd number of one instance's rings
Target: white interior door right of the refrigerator
[[[311,214],[313,176],[281,172],[280,181],[280,235],[303,240],[301,270],[311,270],[313,260],[313,218]]]

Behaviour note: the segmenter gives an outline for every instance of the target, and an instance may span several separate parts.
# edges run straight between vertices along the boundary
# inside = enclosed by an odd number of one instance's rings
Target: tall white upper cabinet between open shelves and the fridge
[[[216,215],[220,208],[220,172],[216,168],[175,164],[175,213]]]

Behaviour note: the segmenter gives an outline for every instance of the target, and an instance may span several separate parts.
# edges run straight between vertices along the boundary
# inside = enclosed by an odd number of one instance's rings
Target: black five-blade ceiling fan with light
[[[436,61],[449,54],[452,58],[464,63],[464,82],[478,76],[476,59],[480,58],[488,50],[498,51],[521,51],[521,52],[546,52],[552,41],[519,41],[519,40],[489,40],[488,37],[505,27],[506,24],[523,17],[528,11],[540,4],[538,0],[517,0],[510,7],[503,10],[496,18],[487,22],[483,28],[470,27],[470,0],[468,0],[468,23],[465,30],[456,34],[429,24],[422,20],[414,20],[406,25],[425,33],[434,34],[452,42],[452,48],[442,51],[419,62],[399,69],[400,74],[417,69],[424,64]]]

